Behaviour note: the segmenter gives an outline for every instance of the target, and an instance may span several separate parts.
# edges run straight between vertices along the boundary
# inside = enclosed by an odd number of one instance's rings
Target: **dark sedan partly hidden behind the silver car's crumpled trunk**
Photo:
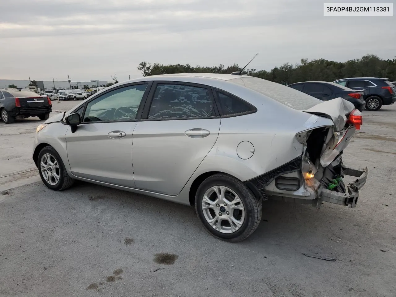
[[[296,82],[288,86],[324,101],[341,97],[353,103],[356,109],[364,110],[364,93],[360,90],[349,89],[333,82]]]

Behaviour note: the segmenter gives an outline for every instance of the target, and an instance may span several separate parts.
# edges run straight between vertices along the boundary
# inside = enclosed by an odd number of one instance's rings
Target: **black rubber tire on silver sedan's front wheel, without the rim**
[[[50,154],[53,156],[53,158],[56,160],[56,162],[59,164],[59,181],[55,185],[49,184],[40,167],[40,162],[44,154]],[[37,168],[38,172],[40,173],[41,180],[43,181],[44,185],[46,185],[48,188],[51,190],[55,191],[63,191],[66,190],[67,188],[70,188],[74,184],[74,179],[72,179],[69,174],[67,173],[65,169],[65,165],[63,164],[63,161],[61,157],[59,156],[58,152],[55,150],[55,148],[51,147],[48,145],[47,147],[42,148],[38,154],[38,159],[37,159]]]

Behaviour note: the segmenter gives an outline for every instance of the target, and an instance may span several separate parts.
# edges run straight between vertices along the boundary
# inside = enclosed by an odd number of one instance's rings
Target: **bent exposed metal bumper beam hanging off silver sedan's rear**
[[[364,169],[352,169],[348,167],[343,168],[345,175],[358,177],[353,183],[348,184],[346,191],[348,193],[340,193],[326,188],[319,189],[318,197],[320,201],[330,202],[339,205],[348,206],[349,208],[356,207],[359,198],[359,190],[364,186],[367,180],[367,167]],[[320,204],[319,204],[320,205]]]

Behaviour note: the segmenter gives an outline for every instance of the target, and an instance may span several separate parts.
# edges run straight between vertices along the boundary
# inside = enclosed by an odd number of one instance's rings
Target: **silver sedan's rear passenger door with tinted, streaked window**
[[[148,97],[133,131],[135,185],[174,196],[215,144],[221,119],[208,86],[156,82]]]

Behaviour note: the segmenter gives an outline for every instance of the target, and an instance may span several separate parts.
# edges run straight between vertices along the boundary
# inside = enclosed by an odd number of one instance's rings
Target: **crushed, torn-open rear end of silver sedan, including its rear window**
[[[302,148],[301,155],[259,177],[249,179],[246,185],[265,199],[313,204],[317,208],[322,202],[356,207],[359,190],[366,183],[367,167],[349,168],[344,165],[342,155],[356,130],[363,124],[361,112],[342,98],[314,102],[307,97],[299,98],[297,93],[284,93],[288,91],[266,85],[264,80],[240,80],[247,88],[311,114],[302,127],[297,128],[301,130],[293,135],[302,145],[298,147],[298,150]],[[324,122],[324,118],[327,122]],[[343,179],[346,176],[354,177],[354,181],[345,185]]]

